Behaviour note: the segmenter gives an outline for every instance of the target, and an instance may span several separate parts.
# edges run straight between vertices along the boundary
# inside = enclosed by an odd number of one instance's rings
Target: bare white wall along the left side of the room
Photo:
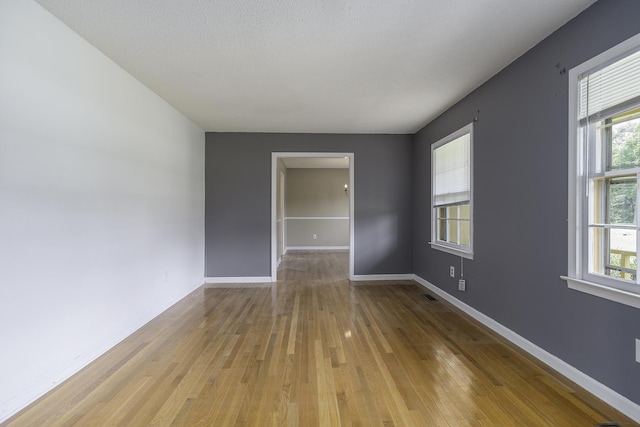
[[[204,132],[0,2],[0,421],[203,283]]]

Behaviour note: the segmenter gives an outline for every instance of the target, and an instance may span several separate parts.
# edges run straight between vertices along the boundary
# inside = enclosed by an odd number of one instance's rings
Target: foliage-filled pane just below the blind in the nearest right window
[[[608,170],[640,166],[640,117],[633,118],[639,112],[631,111],[605,121],[602,132],[611,152]]]

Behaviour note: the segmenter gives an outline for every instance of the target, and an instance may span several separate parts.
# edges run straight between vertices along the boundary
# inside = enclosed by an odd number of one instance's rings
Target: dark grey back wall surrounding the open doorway
[[[207,277],[271,275],[272,152],[354,153],[355,274],[413,271],[411,135],[208,132],[206,141]]]

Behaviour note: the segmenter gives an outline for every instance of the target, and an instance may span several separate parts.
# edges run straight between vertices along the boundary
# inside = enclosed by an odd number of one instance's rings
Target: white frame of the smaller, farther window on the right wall
[[[434,151],[442,147],[443,145],[452,142],[461,136],[469,134],[469,246],[453,244],[450,242],[444,242],[438,240],[438,224],[437,224],[437,209],[440,206],[436,206],[435,203],[435,189],[434,189],[434,175],[435,175],[435,156]],[[431,242],[429,242],[432,249],[447,252],[453,255],[457,255],[467,259],[473,259],[473,123],[469,123],[461,129],[453,132],[452,134],[440,139],[437,142],[431,144]]]

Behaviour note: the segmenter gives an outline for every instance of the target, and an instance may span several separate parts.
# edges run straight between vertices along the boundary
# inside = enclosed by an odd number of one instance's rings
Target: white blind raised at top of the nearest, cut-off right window
[[[579,76],[578,120],[597,121],[640,102],[640,51]]]

